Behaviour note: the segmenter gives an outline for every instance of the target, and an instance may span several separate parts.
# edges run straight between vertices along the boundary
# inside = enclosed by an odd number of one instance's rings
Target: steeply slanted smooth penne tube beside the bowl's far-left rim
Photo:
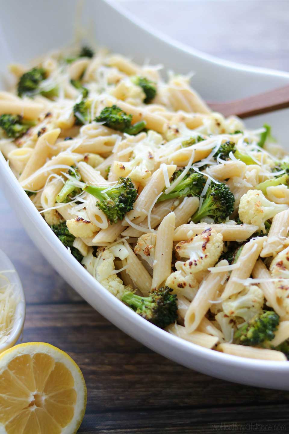
[[[48,158],[51,158],[52,147],[60,134],[60,128],[48,131],[42,134],[37,140],[36,146],[30,155],[30,158],[19,177],[19,182],[26,180],[35,173],[39,168],[44,166]]]

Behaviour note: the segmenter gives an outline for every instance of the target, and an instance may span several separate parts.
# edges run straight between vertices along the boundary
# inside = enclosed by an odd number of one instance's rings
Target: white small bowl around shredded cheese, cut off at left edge
[[[6,270],[9,270],[9,272],[5,273]],[[10,272],[10,270],[13,271]],[[8,348],[13,347],[13,345],[19,339],[19,336],[21,335],[21,332],[23,330],[26,313],[26,302],[21,280],[17,271],[15,270],[15,267],[13,266],[13,263],[2,250],[0,250],[0,275],[1,274],[6,276],[9,279],[10,283],[15,283],[15,295],[19,297],[19,301],[16,306],[15,321],[13,323],[13,327],[11,329],[8,339],[3,342],[3,344],[0,344],[0,353]],[[0,276],[0,286],[5,285],[5,283],[6,279],[3,279],[3,277]]]

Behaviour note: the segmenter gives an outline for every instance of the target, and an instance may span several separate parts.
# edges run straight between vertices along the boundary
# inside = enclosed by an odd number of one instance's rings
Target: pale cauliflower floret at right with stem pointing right
[[[286,209],[288,205],[268,201],[262,191],[249,190],[240,199],[239,217],[243,223],[255,224],[265,231],[265,221]]]

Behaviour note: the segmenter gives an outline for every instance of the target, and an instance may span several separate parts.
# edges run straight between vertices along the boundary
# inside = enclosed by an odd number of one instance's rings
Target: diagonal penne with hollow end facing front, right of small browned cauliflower
[[[228,265],[226,260],[221,260],[216,267],[221,267]],[[187,313],[185,314],[185,328],[189,333],[197,329],[201,320],[204,318],[208,309],[211,306],[211,301],[213,301],[221,290],[224,281],[227,277],[227,271],[222,271],[221,273],[210,273],[198,289],[195,298],[192,300]]]

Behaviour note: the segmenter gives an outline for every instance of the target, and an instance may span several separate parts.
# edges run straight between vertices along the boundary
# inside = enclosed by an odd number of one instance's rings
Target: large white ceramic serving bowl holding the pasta
[[[10,0],[0,16],[0,71],[11,60],[25,62],[50,49],[70,43],[74,37],[77,0]],[[18,13],[15,14],[14,11]],[[33,11],[33,13],[31,13]],[[57,11],[57,13],[56,13]],[[93,29],[100,46],[132,56],[136,61],[151,60],[178,72],[195,71],[193,86],[211,101],[225,101],[286,85],[286,72],[258,69],[215,59],[169,38],[122,12],[110,1],[86,0],[82,10],[84,28]],[[91,23],[93,26],[91,26]],[[1,33],[2,32],[2,33]],[[19,43],[19,38],[21,43]],[[2,78],[0,87],[5,88]],[[249,119],[247,125],[273,125],[280,139],[288,135],[288,110]],[[260,387],[289,390],[289,362],[269,362],[239,358],[191,344],[170,335],[136,315],[104,289],[68,253],[19,187],[3,156],[0,155],[0,179],[10,202],[36,246],[75,290],[128,335],[175,362],[208,375]]]

